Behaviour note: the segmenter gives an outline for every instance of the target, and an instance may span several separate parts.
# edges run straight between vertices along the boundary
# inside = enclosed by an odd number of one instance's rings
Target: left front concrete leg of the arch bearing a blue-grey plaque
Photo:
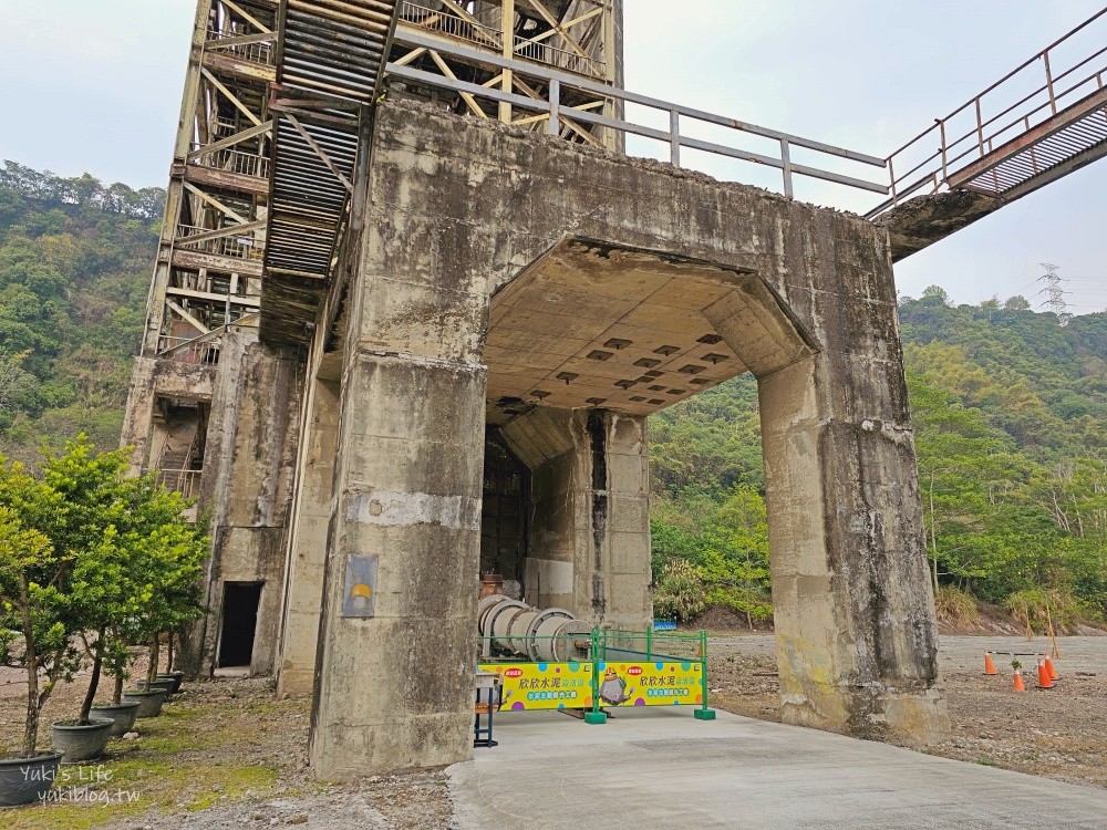
[[[487,300],[375,238],[352,293],[310,748],[329,780],[473,753]]]

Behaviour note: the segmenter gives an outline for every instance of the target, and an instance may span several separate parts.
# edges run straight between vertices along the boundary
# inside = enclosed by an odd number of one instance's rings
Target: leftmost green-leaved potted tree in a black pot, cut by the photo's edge
[[[77,661],[60,590],[64,560],[11,506],[37,512],[49,509],[50,500],[21,465],[0,459],[0,663],[27,672],[22,740],[13,756],[0,759],[0,806],[6,807],[45,798],[53,786],[61,753],[37,750],[39,717],[58,681]]]

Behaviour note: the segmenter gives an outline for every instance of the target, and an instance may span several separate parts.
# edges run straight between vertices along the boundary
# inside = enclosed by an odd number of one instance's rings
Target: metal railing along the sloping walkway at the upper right
[[[984,158],[1007,142],[1104,89],[1107,46],[1076,59],[1064,52],[1072,39],[1100,23],[1107,40],[1107,9],[1051,43],[1030,60],[923,131],[886,159],[891,198],[873,218],[919,191],[938,193],[950,175]]]

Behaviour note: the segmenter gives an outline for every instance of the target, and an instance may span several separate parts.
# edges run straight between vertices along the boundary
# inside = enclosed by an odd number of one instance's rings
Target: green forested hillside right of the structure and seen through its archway
[[[1021,297],[954,307],[933,287],[900,317],[940,611],[971,622],[971,596],[1035,625],[1101,619],[1107,314],[1062,326]],[[756,400],[741,377],[651,422],[669,613],[695,612],[703,595],[770,613]]]

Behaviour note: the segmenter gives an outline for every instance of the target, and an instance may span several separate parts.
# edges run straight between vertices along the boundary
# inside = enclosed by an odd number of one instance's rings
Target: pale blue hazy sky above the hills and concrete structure
[[[625,0],[627,86],[883,156],[1103,8],[1101,0]],[[677,11],[673,11],[677,10]],[[0,0],[0,158],[164,185],[193,0]],[[1099,31],[1104,31],[1100,29]],[[1100,43],[1101,45],[1101,43]],[[704,169],[775,185],[751,166]],[[799,198],[868,197],[801,185]],[[897,266],[903,294],[1031,295],[1061,266],[1107,308],[1107,160]]]

